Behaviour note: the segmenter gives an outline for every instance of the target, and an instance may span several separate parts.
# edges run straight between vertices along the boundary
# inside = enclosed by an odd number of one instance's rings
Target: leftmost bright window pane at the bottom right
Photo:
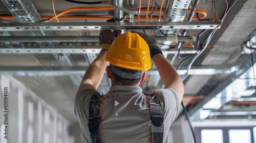
[[[223,143],[222,130],[201,130],[202,143]]]

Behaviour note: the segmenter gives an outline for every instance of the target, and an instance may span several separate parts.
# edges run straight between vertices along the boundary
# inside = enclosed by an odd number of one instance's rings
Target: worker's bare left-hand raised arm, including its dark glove
[[[109,50],[111,42],[120,34],[120,31],[110,30],[102,30],[99,35],[99,44],[101,47],[101,52],[98,57],[89,65],[86,70],[86,74],[84,74],[81,84],[78,88],[94,88],[95,90],[98,88],[102,77],[104,75],[106,61],[105,57]]]

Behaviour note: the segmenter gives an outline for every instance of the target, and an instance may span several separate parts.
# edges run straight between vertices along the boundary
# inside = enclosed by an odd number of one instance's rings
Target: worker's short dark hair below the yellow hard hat
[[[124,73],[129,73],[129,74],[139,74],[141,73],[142,71],[141,70],[132,70],[132,69],[127,69],[127,68],[122,68],[122,67],[119,67],[119,66],[115,66],[117,69],[123,71]],[[112,71],[112,74],[113,74],[113,77],[114,77],[114,80],[116,82],[120,82],[122,85],[135,85],[135,84],[138,84],[142,77],[139,78],[139,79],[127,79],[127,78],[123,78],[123,77],[120,77],[118,75],[116,75],[115,73],[113,73]]]

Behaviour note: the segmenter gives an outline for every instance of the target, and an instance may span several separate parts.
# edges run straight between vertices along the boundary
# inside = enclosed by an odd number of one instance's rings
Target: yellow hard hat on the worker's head
[[[126,32],[111,44],[106,61],[132,70],[151,69],[150,49],[146,41],[137,33]]]

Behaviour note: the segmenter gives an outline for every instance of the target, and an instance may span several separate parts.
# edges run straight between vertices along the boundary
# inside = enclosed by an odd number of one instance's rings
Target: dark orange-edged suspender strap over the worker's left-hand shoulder
[[[102,105],[104,96],[100,96],[97,93],[93,93],[89,105],[89,132],[92,142],[103,142],[102,133],[100,129]]]

